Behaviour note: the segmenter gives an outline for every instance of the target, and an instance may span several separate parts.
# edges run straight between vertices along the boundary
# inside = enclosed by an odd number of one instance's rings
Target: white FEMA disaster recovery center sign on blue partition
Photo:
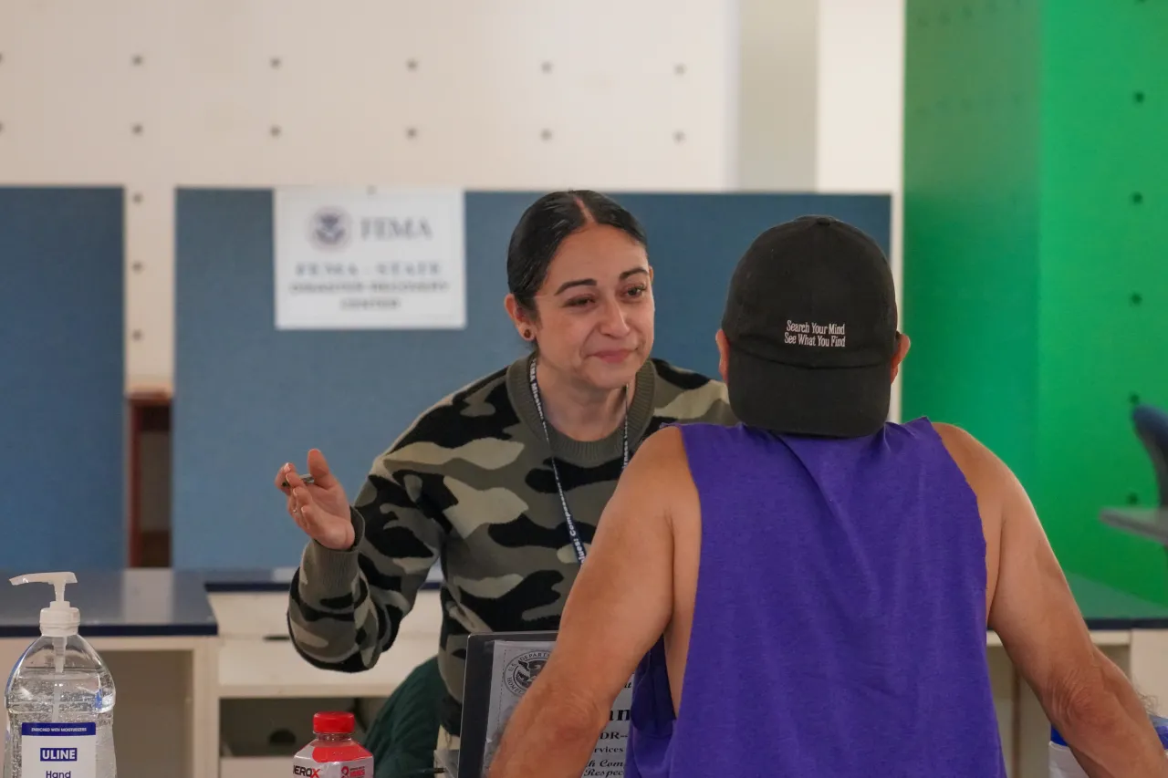
[[[460,189],[276,189],[277,329],[466,327]]]

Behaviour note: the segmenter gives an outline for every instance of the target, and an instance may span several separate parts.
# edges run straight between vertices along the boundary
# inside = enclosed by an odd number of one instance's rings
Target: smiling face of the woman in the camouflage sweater
[[[653,270],[645,248],[614,227],[564,238],[535,296],[540,360],[598,389],[630,383],[653,349]],[[508,305],[510,308],[512,305]]]

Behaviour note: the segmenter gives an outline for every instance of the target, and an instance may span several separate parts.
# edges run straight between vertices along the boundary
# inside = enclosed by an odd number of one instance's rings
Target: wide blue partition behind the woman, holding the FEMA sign
[[[461,331],[277,331],[271,190],[178,194],[174,565],[299,561],[304,534],[272,481],[320,447],[350,496],[427,407],[522,352],[503,311],[512,229],[541,193],[466,195]],[[885,195],[621,194],[655,269],[654,353],[714,375],[735,263],[767,227],[832,214],[888,249]]]

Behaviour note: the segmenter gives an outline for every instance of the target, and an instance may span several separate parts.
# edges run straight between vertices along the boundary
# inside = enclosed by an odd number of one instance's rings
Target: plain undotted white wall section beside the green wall
[[[743,188],[892,195],[898,291],[904,4],[741,0],[738,96]],[[901,417],[899,381],[891,417]]]

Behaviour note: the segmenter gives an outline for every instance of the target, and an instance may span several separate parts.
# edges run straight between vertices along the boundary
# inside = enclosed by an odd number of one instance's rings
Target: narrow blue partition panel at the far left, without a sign
[[[0,187],[0,567],[125,564],[123,202]]]

